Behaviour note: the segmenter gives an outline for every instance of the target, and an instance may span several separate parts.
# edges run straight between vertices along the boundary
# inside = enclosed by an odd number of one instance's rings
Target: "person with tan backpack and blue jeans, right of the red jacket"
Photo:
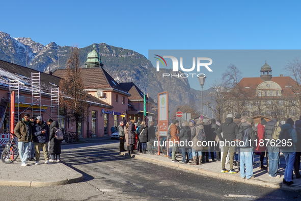
[[[269,160],[269,171],[268,171],[268,176],[270,178],[281,178],[278,172],[278,166],[279,166],[279,147],[276,146],[276,143],[272,143],[271,145],[271,140],[273,142],[276,142],[279,138],[279,134],[281,131],[281,123],[277,120],[278,115],[277,112],[272,112],[271,113],[271,120],[269,120],[265,124],[265,139],[268,139],[269,141],[267,142],[267,150],[268,150],[268,160]]]

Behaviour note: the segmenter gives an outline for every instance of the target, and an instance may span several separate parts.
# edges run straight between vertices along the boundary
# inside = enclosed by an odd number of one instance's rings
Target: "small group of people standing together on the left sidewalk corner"
[[[27,166],[26,161],[35,160],[35,165],[40,163],[40,150],[43,149],[45,164],[60,162],[61,139],[57,135],[62,133],[59,123],[48,119],[43,121],[41,116],[30,118],[29,114],[17,122],[14,134],[18,138],[18,149],[21,166]]]

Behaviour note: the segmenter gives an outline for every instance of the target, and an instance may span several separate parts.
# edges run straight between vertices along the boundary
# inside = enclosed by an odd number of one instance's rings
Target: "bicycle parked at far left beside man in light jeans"
[[[4,163],[12,163],[14,162],[19,156],[19,149],[15,143],[14,136],[10,133],[10,139],[5,145],[5,148],[1,154],[1,161]]]

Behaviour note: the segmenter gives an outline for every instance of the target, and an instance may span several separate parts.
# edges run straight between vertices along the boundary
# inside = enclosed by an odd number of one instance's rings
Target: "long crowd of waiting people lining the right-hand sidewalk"
[[[183,121],[179,125],[178,120],[174,120],[169,126],[169,141],[174,142],[169,148],[169,158],[172,162],[189,163],[190,165],[201,165],[209,162],[221,161],[221,172],[231,174],[238,173],[242,179],[254,178],[253,165],[254,155],[260,156],[259,169],[267,170],[270,178],[281,178],[279,174],[280,152],[283,153],[286,161],[286,168],[283,183],[290,186],[293,184],[293,172],[297,179],[301,178],[300,147],[301,143],[301,116],[300,120],[294,122],[288,118],[285,124],[278,121],[277,112],[271,113],[271,119],[266,121],[261,118],[261,122],[254,123],[254,120],[247,116],[237,114],[235,117],[228,114],[222,123],[220,119],[197,119]],[[137,152],[146,153],[147,142],[155,138],[153,122],[148,128],[145,121],[134,122],[133,119],[126,125],[120,122],[120,152],[126,151],[124,143],[126,141],[128,156]],[[284,141],[283,141],[284,140]],[[190,141],[191,143],[184,143]],[[208,142],[207,145],[200,142]],[[209,143],[209,142],[214,143]],[[275,142],[280,142],[275,143]],[[289,145],[283,145],[289,144]],[[301,147],[300,147],[301,148]],[[182,160],[176,158],[177,152],[182,153]],[[264,158],[265,164],[264,165]],[[225,165],[230,165],[230,170]],[[234,166],[238,166],[236,170]]]

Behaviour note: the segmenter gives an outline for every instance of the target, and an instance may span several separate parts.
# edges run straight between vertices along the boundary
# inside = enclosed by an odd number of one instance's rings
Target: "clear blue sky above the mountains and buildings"
[[[148,49],[301,44],[300,1],[2,1],[1,7],[0,31],[43,45],[105,42],[148,57]]]

